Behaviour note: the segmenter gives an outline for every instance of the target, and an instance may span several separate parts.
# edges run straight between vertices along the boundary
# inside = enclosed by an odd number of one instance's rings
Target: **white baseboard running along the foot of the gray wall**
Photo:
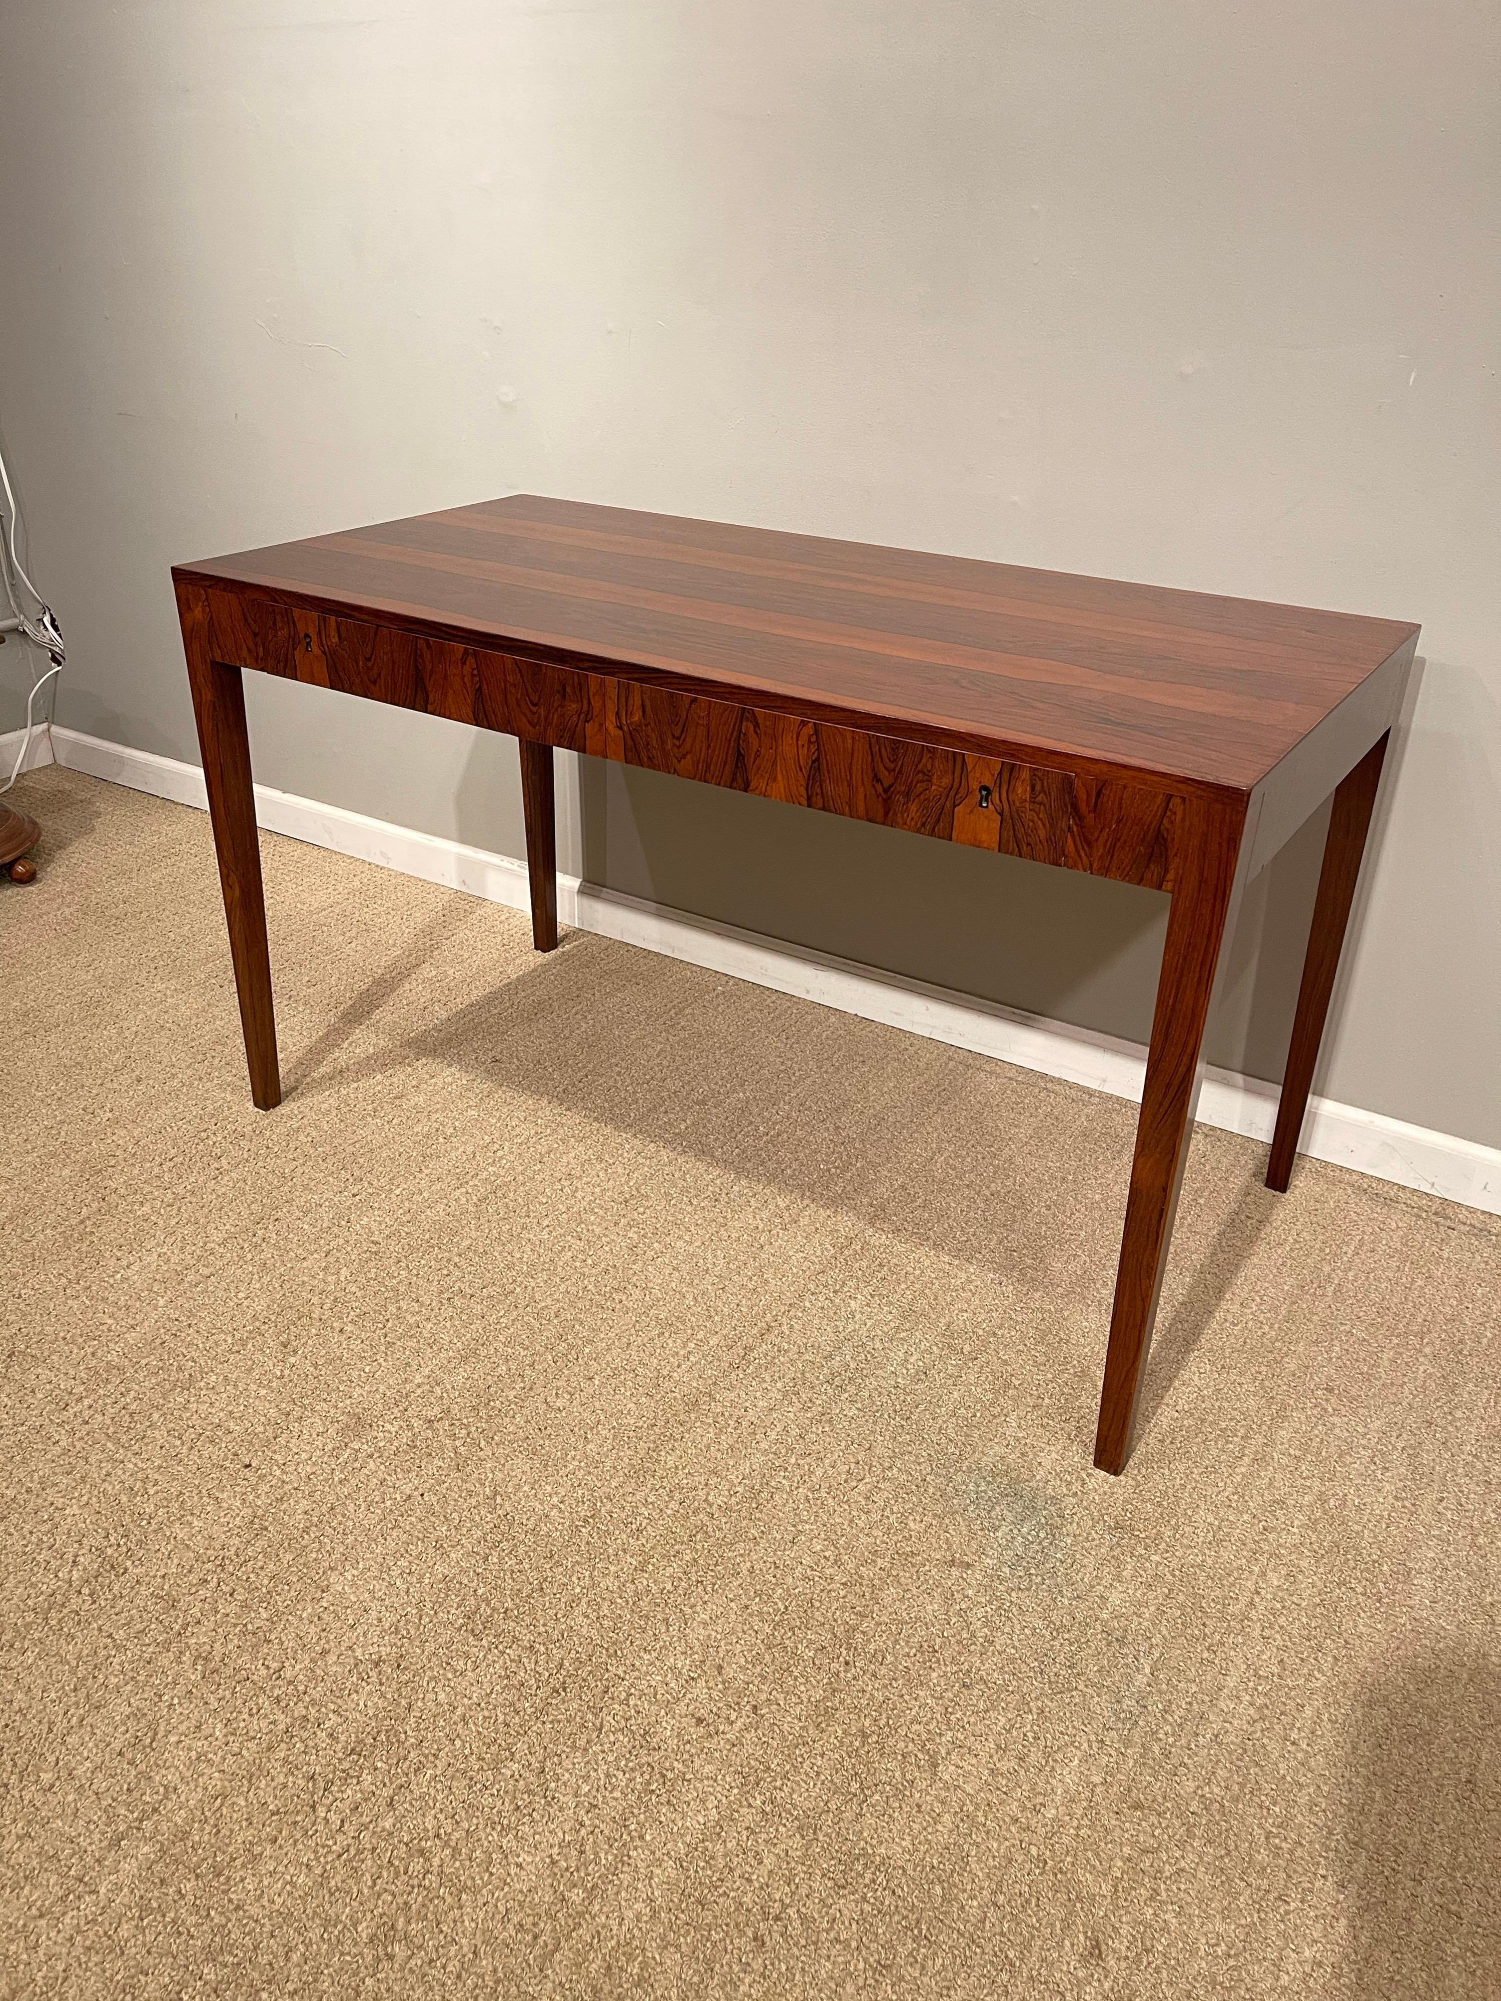
[[[2,742],[2,740],[0,740]],[[16,738],[18,742],[18,738]],[[36,748],[36,746],[34,746]],[[128,784],[138,792],[154,792],[182,806],[208,804],[204,774],[196,764],[156,756],[150,750],[130,750],[124,744],[84,736],[80,730],[52,730],[52,752],[60,764]],[[14,756],[14,746],[12,752]],[[46,762],[46,756],[38,758]],[[256,786],[256,808],[262,826],[272,832],[308,840],[338,854],[378,862],[402,874],[462,888],[488,902],[504,902],[514,910],[530,904],[526,864],[508,854],[488,854],[460,840],[418,834],[408,826],[366,818],[342,806],[320,806],[316,800],[272,786]],[[684,958],[694,966],[728,972],[757,986],[799,994],[821,1007],[861,1015],[865,1021],[927,1035],[937,1043],[973,1049],[983,1057],[1065,1077],[1075,1085],[1109,1091],[1119,1099],[1141,1099],[1147,1051],[1139,1043],[1123,1043],[1089,1029],[1023,1015],[955,994],[923,980],[899,978],[871,966],[815,952],[799,944],[765,938],[732,924],[664,910],[660,904],[622,896],[618,890],[596,888],[578,876],[558,876],[558,916],[578,930],[594,930],[624,944],[638,944],[668,958]],[[1269,1141],[1277,1119],[1277,1089],[1255,1077],[1211,1069],[1199,1097],[1199,1121],[1247,1139]],[[1405,1125],[1381,1113],[1339,1105],[1333,1099],[1311,1099],[1303,1127],[1301,1151],[1319,1161],[1335,1161],[1405,1189],[1425,1189],[1451,1203],[1501,1215],[1501,1149],[1431,1133]]]

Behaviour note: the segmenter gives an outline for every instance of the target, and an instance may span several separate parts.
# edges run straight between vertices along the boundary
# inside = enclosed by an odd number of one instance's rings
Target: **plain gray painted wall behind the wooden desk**
[[[0,424],[60,720],[192,758],[170,560],[514,488],[1421,618],[1321,1089],[1501,1145],[1497,18],[16,0]],[[508,740],[252,702],[268,782],[520,850]],[[564,762],[568,868],[1147,1033],[1159,896]],[[1219,1063],[1279,1069],[1319,834]]]

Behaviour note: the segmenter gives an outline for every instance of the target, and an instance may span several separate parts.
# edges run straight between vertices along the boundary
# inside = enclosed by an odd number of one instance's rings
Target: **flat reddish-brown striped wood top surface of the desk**
[[[1177,788],[1249,790],[1417,632],[532,494],[174,576]]]

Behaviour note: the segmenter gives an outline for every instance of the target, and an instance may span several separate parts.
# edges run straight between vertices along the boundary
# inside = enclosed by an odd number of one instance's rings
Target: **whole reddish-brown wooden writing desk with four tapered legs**
[[[250,1093],[280,1103],[240,670],[1171,896],[1095,1465],[1125,1467],[1221,940],[1333,790],[1267,1183],[1287,1189],[1417,626],[514,494],[172,570]]]

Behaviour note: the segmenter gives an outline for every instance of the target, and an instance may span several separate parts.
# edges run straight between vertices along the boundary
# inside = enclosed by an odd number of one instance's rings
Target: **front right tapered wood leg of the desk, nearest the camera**
[[[1105,1473],[1121,1473],[1131,1457],[1137,1389],[1199,1101],[1205,1021],[1241,882],[1241,822],[1243,814],[1199,808],[1179,850],[1095,1435],[1095,1465]]]

